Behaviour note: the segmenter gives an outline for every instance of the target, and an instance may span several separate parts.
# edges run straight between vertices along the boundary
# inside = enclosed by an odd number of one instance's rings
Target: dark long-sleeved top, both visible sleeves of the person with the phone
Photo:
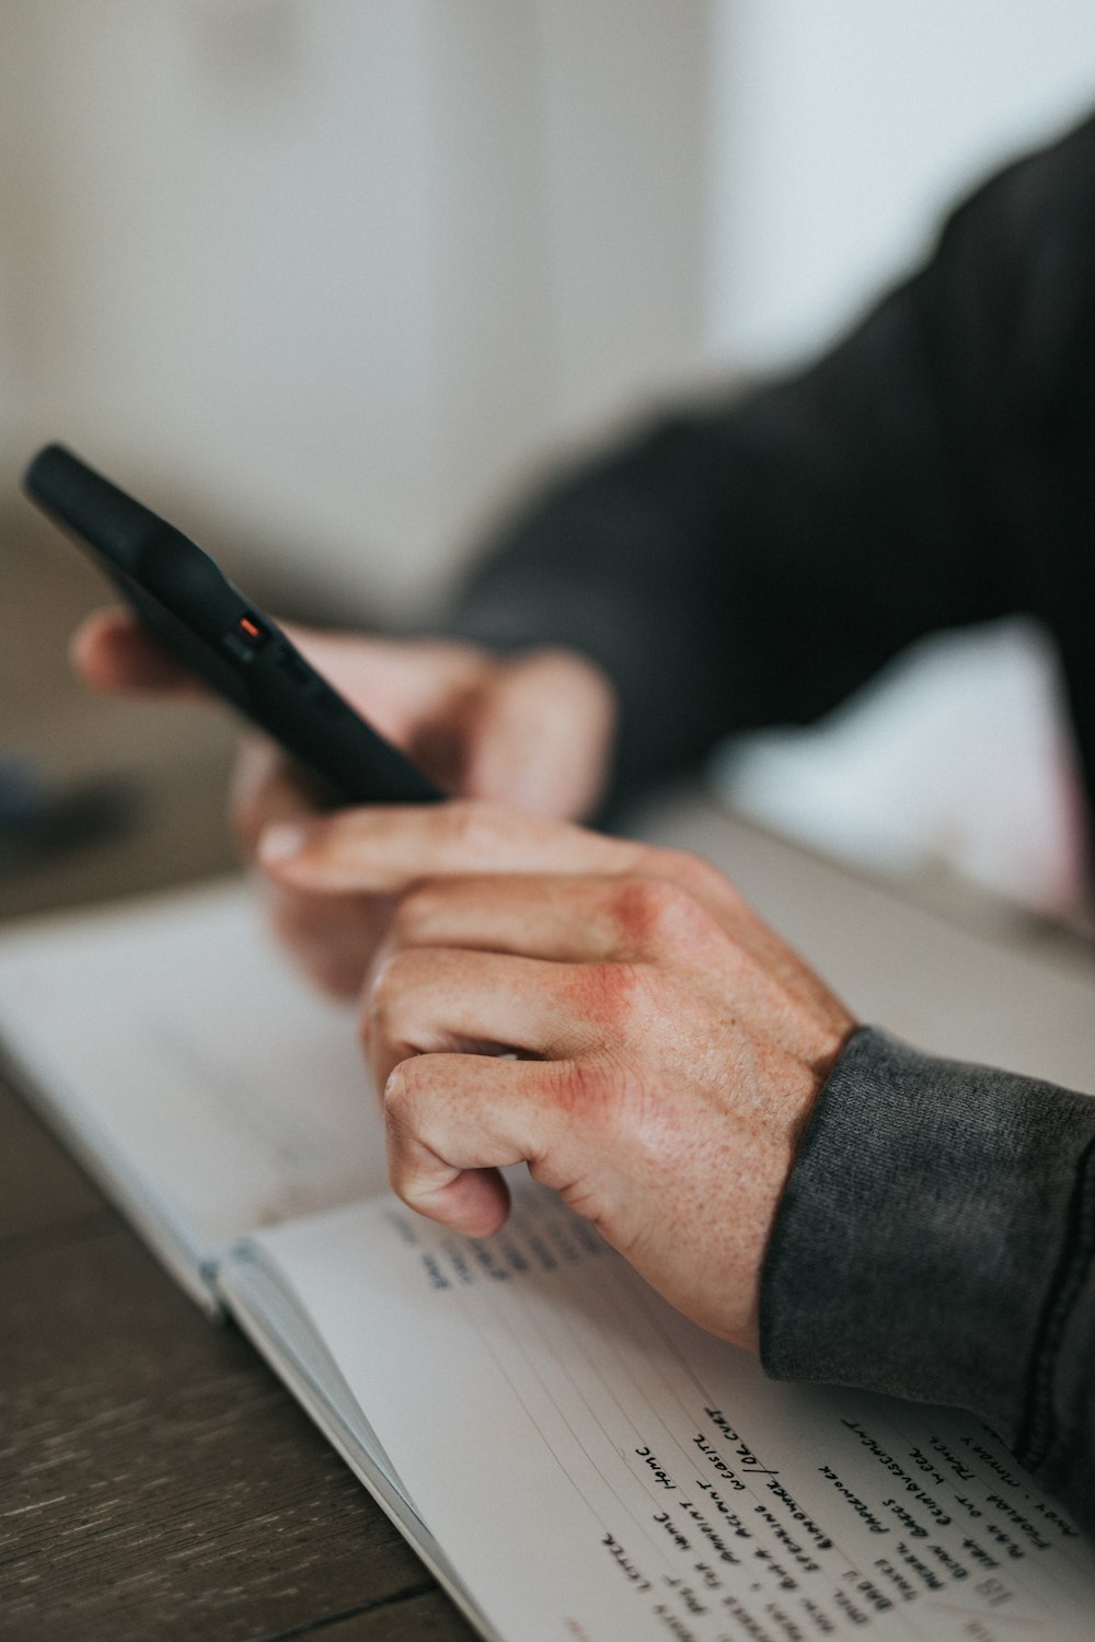
[[[813,368],[560,479],[450,629],[598,660],[625,791],[1013,612],[1057,640],[1095,813],[1095,120]],[[1095,1102],[857,1033],[780,1205],[762,1356],[974,1409],[1095,1530]]]

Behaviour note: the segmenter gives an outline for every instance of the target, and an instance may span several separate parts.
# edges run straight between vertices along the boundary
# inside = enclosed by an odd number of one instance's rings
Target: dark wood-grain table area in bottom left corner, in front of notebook
[[[0,1087],[0,1635],[473,1635],[248,1343]]]

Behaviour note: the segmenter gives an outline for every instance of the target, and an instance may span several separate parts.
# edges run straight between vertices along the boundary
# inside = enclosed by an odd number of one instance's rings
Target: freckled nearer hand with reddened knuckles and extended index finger
[[[775,1209],[855,1023],[714,867],[483,803],[274,828],[259,860],[396,897],[361,1030],[404,1202],[488,1236],[525,1161],[755,1348]]]

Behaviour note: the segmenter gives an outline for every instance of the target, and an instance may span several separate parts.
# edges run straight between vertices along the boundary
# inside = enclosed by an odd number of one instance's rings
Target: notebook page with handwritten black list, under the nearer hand
[[[512,1642],[1092,1635],[1095,1557],[967,1415],[767,1381],[525,1182],[258,1240]]]

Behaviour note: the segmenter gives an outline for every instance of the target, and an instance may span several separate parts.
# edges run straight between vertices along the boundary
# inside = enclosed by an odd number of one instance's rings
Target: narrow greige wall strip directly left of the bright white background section
[[[537,0],[560,432],[704,369],[711,0]]]

